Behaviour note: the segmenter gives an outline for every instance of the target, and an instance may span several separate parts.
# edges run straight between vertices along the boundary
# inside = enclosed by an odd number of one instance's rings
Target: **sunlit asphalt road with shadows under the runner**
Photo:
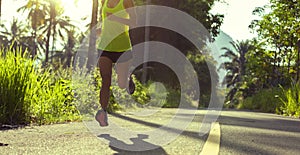
[[[299,119],[223,110],[211,132],[199,136],[206,113],[161,109],[142,116],[123,112],[109,115],[110,125],[105,128],[92,120],[2,130],[0,154],[300,154]]]

